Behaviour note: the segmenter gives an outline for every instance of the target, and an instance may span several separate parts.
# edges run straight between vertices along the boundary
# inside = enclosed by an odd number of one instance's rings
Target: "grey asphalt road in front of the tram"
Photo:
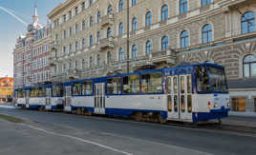
[[[0,113],[27,120],[0,120],[0,154],[256,154],[249,134],[2,107]]]

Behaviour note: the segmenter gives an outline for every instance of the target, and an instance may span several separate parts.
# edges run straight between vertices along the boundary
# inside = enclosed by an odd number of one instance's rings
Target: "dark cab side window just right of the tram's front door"
[[[210,91],[209,77],[205,67],[196,68],[198,91]]]

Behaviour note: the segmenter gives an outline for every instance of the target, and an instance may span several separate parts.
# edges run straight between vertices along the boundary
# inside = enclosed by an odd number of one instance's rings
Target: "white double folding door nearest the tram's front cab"
[[[169,76],[166,85],[168,119],[191,121],[191,75]]]

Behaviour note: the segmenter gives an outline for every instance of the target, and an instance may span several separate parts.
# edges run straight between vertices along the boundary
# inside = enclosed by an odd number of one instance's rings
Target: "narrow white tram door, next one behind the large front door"
[[[95,113],[105,114],[105,83],[95,84]]]

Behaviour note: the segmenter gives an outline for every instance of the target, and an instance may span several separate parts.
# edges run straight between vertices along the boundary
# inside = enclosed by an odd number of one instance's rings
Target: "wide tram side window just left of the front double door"
[[[144,93],[162,92],[162,74],[160,72],[144,74],[141,78],[141,90]]]

